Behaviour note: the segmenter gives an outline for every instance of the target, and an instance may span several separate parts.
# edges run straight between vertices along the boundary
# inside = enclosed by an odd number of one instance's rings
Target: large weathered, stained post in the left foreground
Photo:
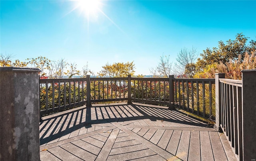
[[[38,72],[0,67],[0,160],[40,160]]]

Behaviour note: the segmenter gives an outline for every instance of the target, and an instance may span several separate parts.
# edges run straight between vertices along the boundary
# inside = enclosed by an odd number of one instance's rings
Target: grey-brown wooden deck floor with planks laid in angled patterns
[[[87,161],[237,160],[224,134],[177,111],[105,104],[46,116],[40,159]]]

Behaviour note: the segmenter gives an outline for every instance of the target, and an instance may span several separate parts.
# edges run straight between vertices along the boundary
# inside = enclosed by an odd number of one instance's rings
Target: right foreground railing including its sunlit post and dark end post
[[[216,126],[226,135],[238,160],[256,159],[256,70],[242,70],[242,80],[215,74]]]

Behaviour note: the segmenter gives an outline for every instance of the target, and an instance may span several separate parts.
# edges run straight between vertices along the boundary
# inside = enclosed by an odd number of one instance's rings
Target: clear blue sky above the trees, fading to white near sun
[[[70,0],[1,0],[0,53],[45,56],[99,72],[107,62],[134,61],[150,75],[160,56],[198,53],[243,33],[256,39],[256,1],[102,0],[82,10]],[[76,8],[76,9],[74,9]]]

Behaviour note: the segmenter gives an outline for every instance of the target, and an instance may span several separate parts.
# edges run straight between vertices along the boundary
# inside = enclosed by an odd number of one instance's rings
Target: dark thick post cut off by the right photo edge
[[[256,69],[242,70],[243,160],[256,159]]]

